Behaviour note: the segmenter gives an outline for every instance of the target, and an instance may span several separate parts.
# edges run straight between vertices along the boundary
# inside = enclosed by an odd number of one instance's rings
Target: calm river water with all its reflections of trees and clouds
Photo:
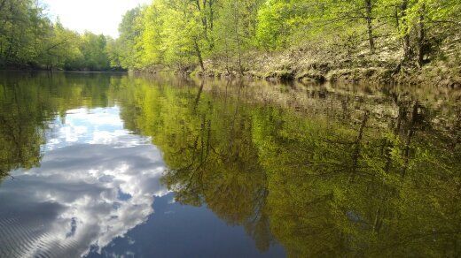
[[[0,257],[461,256],[461,90],[0,73]]]

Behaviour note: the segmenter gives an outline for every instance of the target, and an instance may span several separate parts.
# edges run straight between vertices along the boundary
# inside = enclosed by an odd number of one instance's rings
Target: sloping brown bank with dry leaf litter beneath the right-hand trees
[[[457,47],[458,48],[458,47]],[[402,62],[402,51],[384,50],[370,54],[366,50],[354,54],[347,51],[289,49],[282,52],[251,52],[242,57],[243,71],[229,65],[224,58],[209,59],[205,71],[199,66],[187,70],[205,77],[246,76],[264,80],[297,80],[301,82],[364,82],[422,84],[461,87],[459,49],[450,49],[437,57],[427,57],[426,64]],[[183,72],[183,71],[182,71]]]

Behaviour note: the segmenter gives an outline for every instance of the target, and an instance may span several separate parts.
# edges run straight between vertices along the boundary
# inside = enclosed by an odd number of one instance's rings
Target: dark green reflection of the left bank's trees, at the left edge
[[[106,105],[108,76],[0,74],[0,178],[38,166],[49,123],[66,110]]]

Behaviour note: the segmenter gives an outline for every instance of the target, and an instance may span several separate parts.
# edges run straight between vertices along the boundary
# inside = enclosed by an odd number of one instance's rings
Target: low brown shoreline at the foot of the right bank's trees
[[[208,59],[204,62],[205,71],[199,65],[188,65],[187,68],[171,68],[163,65],[152,65],[142,69],[130,70],[136,73],[173,72],[191,77],[236,79],[248,78],[254,80],[298,81],[301,83],[345,82],[371,84],[401,84],[424,85],[436,87],[461,87],[461,66],[447,65],[434,61],[422,68],[414,65],[399,67],[397,61],[382,62],[382,65],[361,64],[360,58],[352,58],[348,62],[330,58],[324,61],[320,57],[300,60],[284,57],[279,53],[275,57],[267,55],[249,55],[245,70],[241,74],[236,67],[223,65],[221,59]],[[325,59],[328,59],[325,57]],[[352,64],[349,64],[352,63]],[[379,63],[371,60],[370,63]],[[396,69],[395,67],[398,67]]]

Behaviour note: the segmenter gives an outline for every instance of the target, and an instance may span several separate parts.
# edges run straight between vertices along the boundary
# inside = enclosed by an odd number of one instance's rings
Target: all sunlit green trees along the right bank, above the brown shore
[[[155,0],[126,13],[113,61],[206,69],[220,60],[243,72],[249,53],[310,48],[421,66],[447,39],[459,46],[460,14],[459,0]]]

